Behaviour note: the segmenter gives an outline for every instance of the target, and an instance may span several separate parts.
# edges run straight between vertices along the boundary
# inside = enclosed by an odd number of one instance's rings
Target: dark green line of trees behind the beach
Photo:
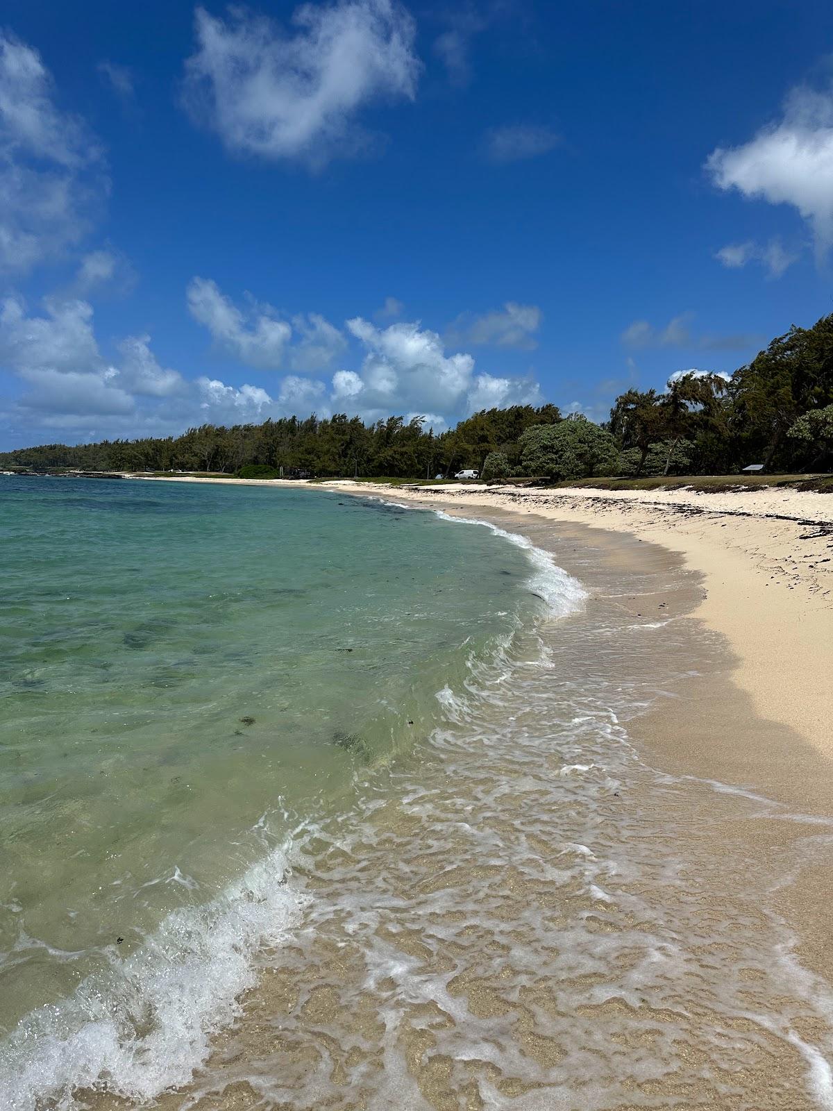
[[[440,434],[422,418],[365,424],[337,413],[183,436],[43,444],[0,453],[0,467],[90,471],[309,473],[322,478],[484,478],[591,474],[731,474],[820,471],[833,462],[833,314],[793,326],[731,377],[674,376],[664,391],[630,389],[610,419],[562,416],[552,404],[489,409]],[[249,473],[251,471],[249,470]]]

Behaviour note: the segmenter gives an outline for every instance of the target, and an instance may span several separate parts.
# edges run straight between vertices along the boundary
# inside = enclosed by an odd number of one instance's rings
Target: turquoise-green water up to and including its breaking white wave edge
[[[44,1091],[137,1037],[193,1052],[297,921],[293,831],[430,733],[552,571],[287,488],[6,477],[0,543],[0,1065],[37,1035]]]

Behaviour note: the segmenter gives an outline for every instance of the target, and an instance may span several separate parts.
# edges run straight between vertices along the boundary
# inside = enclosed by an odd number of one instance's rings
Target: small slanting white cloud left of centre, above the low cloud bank
[[[217,343],[248,367],[277,370],[283,362],[291,327],[278,320],[270,306],[254,306],[242,313],[217,282],[194,278],[187,291],[188,309]]]

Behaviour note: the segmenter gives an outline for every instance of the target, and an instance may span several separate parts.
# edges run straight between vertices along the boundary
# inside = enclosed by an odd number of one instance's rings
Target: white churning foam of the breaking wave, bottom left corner
[[[36,1111],[51,1099],[63,1111],[74,1091],[102,1085],[144,1101],[188,1082],[254,984],[255,952],[284,942],[300,920],[308,900],[287,883],[288,848],[213,902],[173,911],[127,960],[113,954],[107,974],[29,1014],[0,1043],[3,1108]]]

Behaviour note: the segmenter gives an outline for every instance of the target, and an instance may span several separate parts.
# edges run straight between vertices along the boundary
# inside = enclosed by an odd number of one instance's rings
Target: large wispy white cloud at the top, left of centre
[[[320,167],[367,144],[367,104],[413,98],[414,23],[397,0],[303,4],[292,22],[287,33],[242,8],[228,21],[198,8],[185,103],[232,152]]]

